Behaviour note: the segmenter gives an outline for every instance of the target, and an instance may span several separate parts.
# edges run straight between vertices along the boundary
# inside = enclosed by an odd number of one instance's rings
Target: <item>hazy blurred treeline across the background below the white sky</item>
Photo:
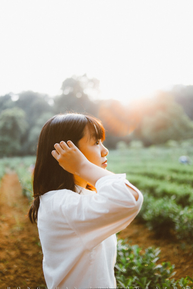
[[[65,79],[61,89],[62,94],[54,98],[32,91],[0,97],[0,157],[35,154],[44,123],[65,112],[100,118],[108,148],[119,141],[140,140],[150,146],[193,138],[193,85],[176,85],[128,106],[115,100],[91,100],[99,92],[99,81],[86,74]]]

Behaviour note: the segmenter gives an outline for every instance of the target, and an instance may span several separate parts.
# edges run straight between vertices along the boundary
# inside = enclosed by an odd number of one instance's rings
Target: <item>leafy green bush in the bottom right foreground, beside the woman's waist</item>
[[[187,276],[175,281],[172,278],[175,265],[169,262],[157,264],[160,249],[148,247],[142,253],[138,245],[129,245],[124,240],[118,240],[117,263],[115,265],[115,278],[119,288],[165,288],[185,286],[192,288],[192,279]]]

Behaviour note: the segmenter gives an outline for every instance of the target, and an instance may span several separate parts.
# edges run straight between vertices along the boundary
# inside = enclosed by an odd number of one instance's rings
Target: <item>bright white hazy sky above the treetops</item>
[[[193,85],[192,11],[192,0],[1,0],[0,95],[57,95],[84,73],[122,101]]]

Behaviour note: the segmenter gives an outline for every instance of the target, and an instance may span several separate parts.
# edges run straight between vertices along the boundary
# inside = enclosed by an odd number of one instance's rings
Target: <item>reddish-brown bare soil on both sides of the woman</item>
[[[0,289],[43,289],[46,286],[42,270],[42,250],[36,225],[27,217],[29,201],[15,173],[6,174],[0,187]],[[156,238],[144,224],[134,220],[119,233],[131,244],[142,248],[160,247],[161,262],[175,264],[175,279],[192,276],[192,246],[175,237]]]

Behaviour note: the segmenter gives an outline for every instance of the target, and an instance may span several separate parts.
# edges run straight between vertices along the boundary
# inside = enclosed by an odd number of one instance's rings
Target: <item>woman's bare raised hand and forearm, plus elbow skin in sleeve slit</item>
[[[82,154],[72,141],[67,141],[67,143],[61,141],[59,144],[55,144],[54,148],[56,150],[52,151],[52,156],[59,162],[59,165],[62,166],[63,169],[73,175],[80,176],[93,186],[95,186],[100,178],[114,175],[114,173],[100,168],[87,160],[84,154]],[[138,193],[131,187],[128,186],[128,188],[135,199],[138,200]]]

